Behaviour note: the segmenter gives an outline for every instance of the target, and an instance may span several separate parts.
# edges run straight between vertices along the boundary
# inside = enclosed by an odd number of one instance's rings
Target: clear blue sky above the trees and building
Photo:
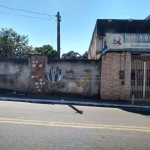
[[[40,15],[0,6],[0,28],[12,28],[18,34],[27,35],[29,45],[33,47],[49,44],[55,50],[55,15],[59,11],[61,55],[71,50],[80,54],[87,51],[97,19],[145,19],[150,15],[150,0],[0,0],[0,5],[49,14]]]

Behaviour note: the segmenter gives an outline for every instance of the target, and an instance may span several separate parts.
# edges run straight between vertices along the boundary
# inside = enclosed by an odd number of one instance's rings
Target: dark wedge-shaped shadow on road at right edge
[[[141,114],[150,118],[150,110],[149,109],[138,109],[138,108],[120,108],[121,110],[128,111],[131,113]]]

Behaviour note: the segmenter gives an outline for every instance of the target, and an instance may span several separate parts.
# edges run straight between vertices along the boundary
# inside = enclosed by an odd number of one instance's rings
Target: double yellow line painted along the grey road
[[[137,127],[137,126],[80,124],[80,123],[48,122],[48,121],[21,120],[21,119],[8,119],[8,118],[0,118],[0,123],[50,126],[50,127],[83,128],[83,129],[109,129],[109,130],[150,132],[150,128]]]

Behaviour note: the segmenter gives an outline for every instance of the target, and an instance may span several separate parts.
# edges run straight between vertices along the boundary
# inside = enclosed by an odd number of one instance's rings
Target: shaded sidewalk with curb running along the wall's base
[[[98,98],[79,98],[69,96],[50,96],[50,95],[24,95],[24,94],[2,94],[1,101],[18,101],[42,104],[67,104],[82,106],[102,106],[102,107],[126,107],[126,108],[144,108],[150,109],[150,102],[135,101],[132,105],[131,101],[123,100],[100,100]]]

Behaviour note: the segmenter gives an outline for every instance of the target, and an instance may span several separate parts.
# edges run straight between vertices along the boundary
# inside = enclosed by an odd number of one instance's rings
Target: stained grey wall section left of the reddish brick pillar
[[[29,76],[28,59],[0,59],[0,89],[27,92]]]

